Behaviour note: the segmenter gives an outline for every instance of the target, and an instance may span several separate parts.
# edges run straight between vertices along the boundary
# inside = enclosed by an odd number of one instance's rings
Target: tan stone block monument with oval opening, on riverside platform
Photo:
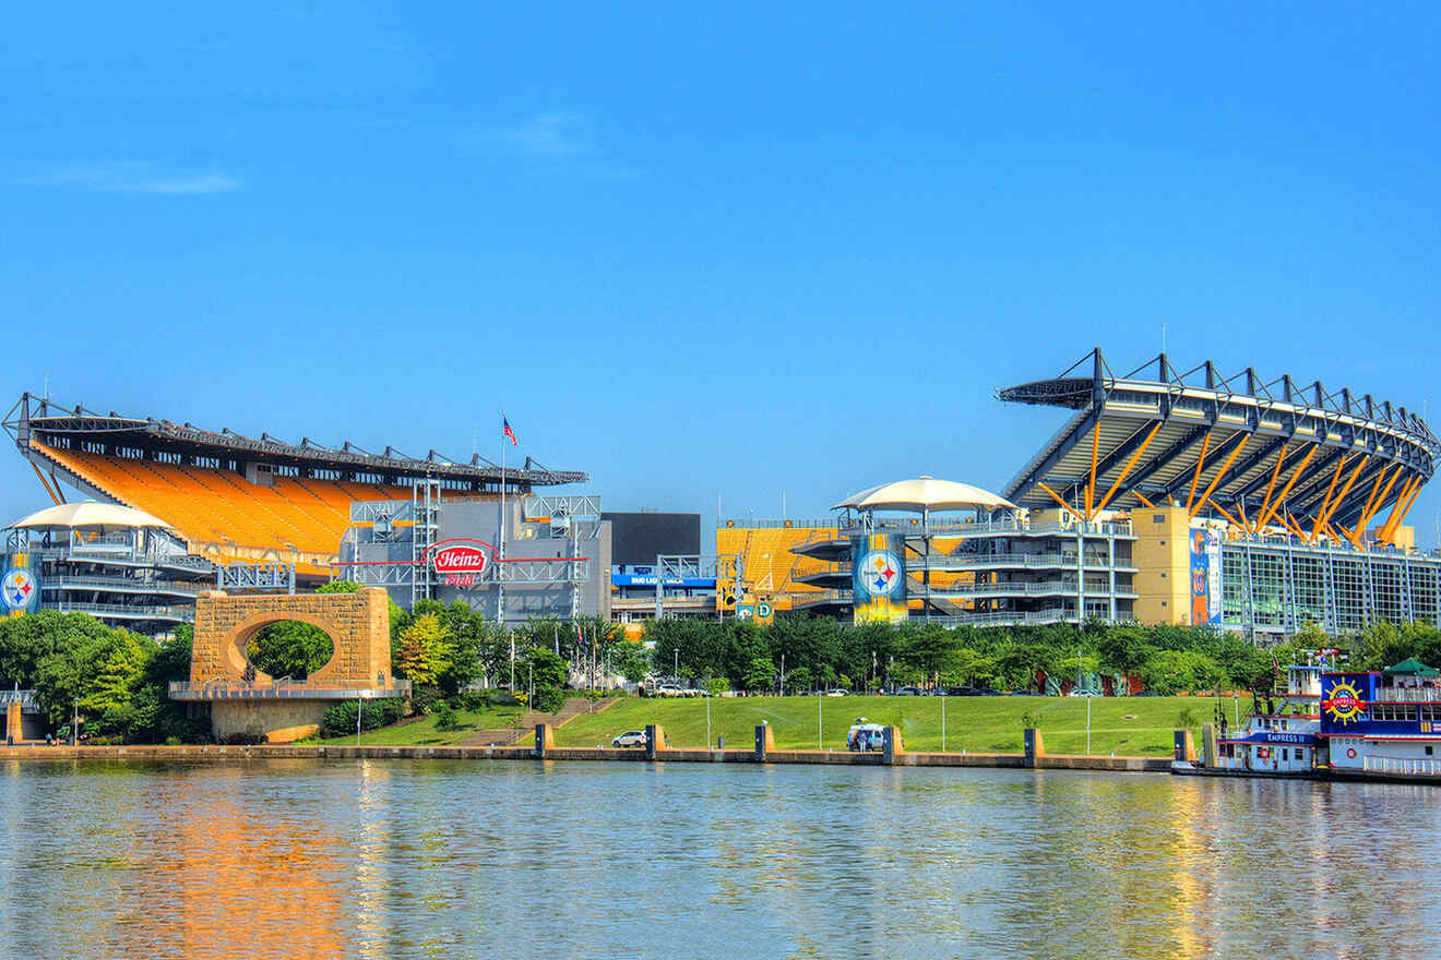
[[[330,661],[304,681],[267,676],[245,658],[261,628],[282,620],[320,628],[334,646]],[[409,692],[409,681],[391,676],[389,599],[379,587],[278,596],[202,593],[190,681],[170,685],[173,699],[210,704],[210,723],[222,743],[235,735],[288,743],[316,733],[333,704]]]

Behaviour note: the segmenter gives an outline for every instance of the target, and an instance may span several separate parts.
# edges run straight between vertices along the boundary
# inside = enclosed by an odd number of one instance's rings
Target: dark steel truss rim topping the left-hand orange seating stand
[[[32,455],[30,440],[66,448],[84,446],[91,452],[110,453],[117,448],[147,455],[176,453],[182,458],[215,458],[236,462],[258,462],[298,471],[333,471],[342,479],[365,475],[376,482],[403,485],[412,479],[432,478],[451,481],[455,486],[473,489],[529,489],[581,484],[588,479],[575,471],[552,471],[529,456],[522,466],[501,468],[473,455],[470,461],[454,461],[434,449],[424,458],[408,456],[392,446],[370,453],[346,440],[339,448],[316,443],[308,436],[298,443],[277,439],[269,433],[251,438],[229,427],[205,430],[192,423],[176,425],[154,417],[127,417],[115,412],[95,413],[84,404],[61,407],[29,393],[10,407],[4,427],[26,456]],[[48,465],[46,465],[48,466]]]

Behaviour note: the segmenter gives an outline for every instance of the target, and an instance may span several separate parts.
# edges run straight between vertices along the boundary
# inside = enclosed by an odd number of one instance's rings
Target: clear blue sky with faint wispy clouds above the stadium
[[[1437,407],[1435,4],[215,6],[9,12],[7,397],[450,456],[504,407],[708,524],[1000,486],[1065,413],[993,390],[1163,322]]]

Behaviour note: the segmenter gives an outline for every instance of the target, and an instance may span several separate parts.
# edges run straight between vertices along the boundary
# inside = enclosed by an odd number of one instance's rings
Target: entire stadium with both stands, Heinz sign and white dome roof
[[[75,609],[183,609],[212,574],[228,589],[339,576],[405,606],[464,600],[507,622],[790,609],[1206,623],[1258,639],[1308,620],[1333,633],[1441,625],[1441,557],[1419,553],[1405,524],[1441,443],[1405,407],[1252,368],[1223,377],[1209,361],[1179,371],[1166,356],[1115,376],[1099,350],[997,397],[1069,412],[999,492],[901,481],[823,520],[723,521],[702,556],[693,514],[607,515],[598,497],[537,492],[586,476],[530,458],[507,468],[290,443],[23,394],[4,427],[58,505],[71,486],[163,528],[53,528],[39,541],[16,528],[7,573],[20,554],[40,557],[17,579],[52,580],[45,602]],[[102,561],[101,547],[134,563]],[[154,630],[174,620],[117,616]]]

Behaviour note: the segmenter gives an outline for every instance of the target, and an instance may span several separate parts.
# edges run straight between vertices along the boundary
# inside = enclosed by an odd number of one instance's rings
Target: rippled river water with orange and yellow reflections
[[[0,766],[0,956],[1429,956],[1441,789],[980,769]]]

